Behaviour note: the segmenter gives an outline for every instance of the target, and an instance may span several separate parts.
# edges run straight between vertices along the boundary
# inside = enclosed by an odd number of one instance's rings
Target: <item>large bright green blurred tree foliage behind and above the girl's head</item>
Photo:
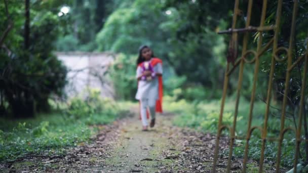
[[[97,34],[98,50],[136,54],[140,45],[147,44],[178,76],[186,76],[187,82],[215,88],[223,77],[223,37],[205,27],[202,33],[179,39],[185,14],[170,8],[168,15],[164,6],[159,1],[135,1],[115,10]]]

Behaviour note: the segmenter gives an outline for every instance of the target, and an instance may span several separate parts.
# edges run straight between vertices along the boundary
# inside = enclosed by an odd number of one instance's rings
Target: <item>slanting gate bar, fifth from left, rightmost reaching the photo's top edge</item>
[[[291,35],[290,35],[289,48],[288,48],[288,66],[287,66],[288,69],[292,66],[292,57],[293,57],[292,50],[293,50],[293,42],[294,42],[294,35],[295,35],[296,13],[297,13],[297,0],[294,1],[294,6],[293,6]],[[284,135],[283,131],[284,131],[284,125],[285,125],[286,105],[287,105],[287,95],[289,92],[289,84],[290,84],[290,71],[287,70],[286,81],[285,81],[285,92],[284,92],[283,103],[282,103],[282,116],[281,116],[281,124],[280,124],[278,154],[277,154],[277,161],[276,161],[276,172],[277,173],[279,172],[279,167],[280,167],[281,144],[282,144],[283,135]],[[296,172],[296,166],[294,167],[294,172]]]

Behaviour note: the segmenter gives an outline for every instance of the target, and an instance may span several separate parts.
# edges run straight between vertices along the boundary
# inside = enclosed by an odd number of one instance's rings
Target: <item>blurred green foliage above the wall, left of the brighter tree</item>
[[[70,8],[65,21],[65,29],[57,40],[57,51],[85,51],[97,49],[95,37],[102,28],[108,15],[117,8],[111,0],[80,0],[63,3]]]

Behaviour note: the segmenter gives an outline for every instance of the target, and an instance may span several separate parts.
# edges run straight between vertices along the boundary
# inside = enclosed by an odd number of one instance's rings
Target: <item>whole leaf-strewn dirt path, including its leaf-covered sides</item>
[[[25,157],[1,165],[3,172],[210,172],[215,136],[172,126],[173,115],[158,115],[157,124],[141,131],[138,117],[99,126],[91,144],[71,148],[64,157]],[[221,139],[227,148],[227,139]],[[42,154],[43,155],[43,154]],[[234,159],[232,172],[240,172],[242,160]],[[257,171],[251,161],[248,170]],[[225,172],[221,157],[217,172]],[[266,172],[272,172],[268,169]]]

